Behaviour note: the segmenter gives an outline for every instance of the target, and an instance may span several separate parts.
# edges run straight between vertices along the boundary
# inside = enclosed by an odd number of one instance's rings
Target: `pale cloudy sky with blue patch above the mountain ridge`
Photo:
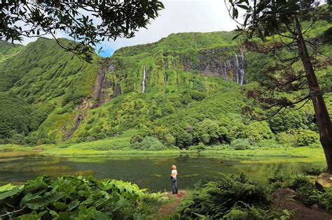
[[[104,41],[102,57],[110,57],[120,47],[152,43],[173,33],[231,31],[236,23],[228,15],[223,0],[161,0],[165,9],[151,20],[146,29],[139,29],[133,38],[118,38]],[[64,34],[57,37],[67,38]],[[21,43],[26,45],[36,38],[25,38]]]

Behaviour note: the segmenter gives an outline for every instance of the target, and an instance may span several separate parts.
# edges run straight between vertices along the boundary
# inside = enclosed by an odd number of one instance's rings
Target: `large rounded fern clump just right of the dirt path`
[[[179,206],[180,219],[273,219],[267,189],[245,175],[198,184]]]

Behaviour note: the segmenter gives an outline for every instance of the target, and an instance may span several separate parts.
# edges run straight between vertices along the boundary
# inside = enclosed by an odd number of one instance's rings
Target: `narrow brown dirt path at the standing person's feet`
[[[181,191],[181,190],[179,191],[179,195],[172,195],[171,192],[166,192],[165,196],[170,198],[171,201],[170,203],[167,203],[165,205],[162,205],[162,207],[160,207],[159,219],[162,219],[162,217],[165,216],[172,215],[175,212],[175,210],[177,210],[177,207],[179,207],[181,200],[186,198],[187,194],[188,193],[186,191]]]

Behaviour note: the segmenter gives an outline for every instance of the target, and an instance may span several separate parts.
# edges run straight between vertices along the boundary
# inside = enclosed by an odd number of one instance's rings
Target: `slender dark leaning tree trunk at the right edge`
[[[310,98],[314,105],[314,115],[316,116],[317,126],[319,131],[319,138],[321,146],[324,149],[328,173],[332,174],[332,124],[328,115],[328,111],[324,102],[323,94],[319,88],[314,68],[310,61],[310,56],[307,52],[307,47],[303,39],[300,22],[296,18],[296,42],[298,44],[298,51],[302,60],[305,74],[307,76],[307,85],[310,89]]]

